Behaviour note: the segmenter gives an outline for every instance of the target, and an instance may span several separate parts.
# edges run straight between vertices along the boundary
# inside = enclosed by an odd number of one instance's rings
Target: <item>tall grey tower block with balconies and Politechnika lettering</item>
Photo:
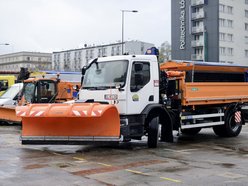
[[[172,59],[248,65],[248,0],[171,0]]]

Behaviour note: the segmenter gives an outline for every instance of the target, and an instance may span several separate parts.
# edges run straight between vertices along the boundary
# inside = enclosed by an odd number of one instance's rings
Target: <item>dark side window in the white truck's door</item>
[[[134,62],[131,73],[131,92],[137,92],[150,81],[150,64],[147,62]]]

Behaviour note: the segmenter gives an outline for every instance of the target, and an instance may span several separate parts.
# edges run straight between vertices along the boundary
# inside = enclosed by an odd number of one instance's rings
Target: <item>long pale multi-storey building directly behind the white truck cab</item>
[[[153,46],[154,44],[142,41],[126,41],[123,49],[124,53],[138,55],[145,54],[146,50]],[[85,45],[84,48],[53,52],[52,67],[58,71],[80,71],[91,59],[121,54],[121,42],[98,46]]]

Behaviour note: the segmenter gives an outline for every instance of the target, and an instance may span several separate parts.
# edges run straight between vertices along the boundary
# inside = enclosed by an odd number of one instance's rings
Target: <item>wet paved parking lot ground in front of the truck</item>
[[[145,139],[119,146],[29,146],[20,126],[0,127],[0,185],[247,185],[248,126],[236,138],[211,129],[148,149]]]

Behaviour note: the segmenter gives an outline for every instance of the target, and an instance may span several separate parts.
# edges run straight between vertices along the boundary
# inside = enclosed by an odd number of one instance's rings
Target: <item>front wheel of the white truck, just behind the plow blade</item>
[[[153,118],[148,126],[148,140],[147,145],[149,148],[156,148],[158,146],[159,135],[159,118]]]

